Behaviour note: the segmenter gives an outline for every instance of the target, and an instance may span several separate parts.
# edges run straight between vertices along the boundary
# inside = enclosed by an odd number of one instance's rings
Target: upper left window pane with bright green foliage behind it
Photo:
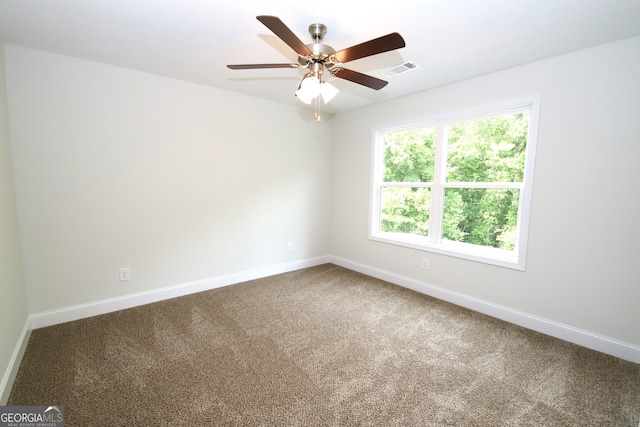
[[[435,127],[384,135],[384,182],[433,182]]]

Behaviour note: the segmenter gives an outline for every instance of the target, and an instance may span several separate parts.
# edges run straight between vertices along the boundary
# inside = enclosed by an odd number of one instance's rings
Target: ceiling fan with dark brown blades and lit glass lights
[[[306,104],[315,101],[314,118],[317,121],[320,121],[318,114],[319,97],[322,96],[324,102],[327,103],[338,92],[335,87],[322,81],[322,75],[325,72],[371,89],[380,90],[388,82],[358,71],[343,68],[341,64],[405,47],[402,36],[398,33],[391,33],[336,52],[331,46],[322,43],[327,33],[327,27],[323,24],[311,24],[309,26],[309,34],[311,34],[313,43],[304,44],[280,18],[269,15],[260,15],[256,18],[298,54],[298,62],[291,64],[236,64],[227,65],[227,67],[232,70],[256,68],[309,69],[309,72],[302,77],[298,90],[296,90],[296,96]]]

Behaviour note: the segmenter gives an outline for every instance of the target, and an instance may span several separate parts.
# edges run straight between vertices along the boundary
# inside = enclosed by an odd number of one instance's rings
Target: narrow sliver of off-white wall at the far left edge
[[[0,40],[0,394],[8,393],[6,386],[12,382],[9,365],[27,324],[4,70]],[[5,404],[6,398],[8,395],[0,395],[0,404]]]

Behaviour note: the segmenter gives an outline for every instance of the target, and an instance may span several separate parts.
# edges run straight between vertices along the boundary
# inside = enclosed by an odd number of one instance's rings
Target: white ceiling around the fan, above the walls
[[[346,63],[389,84],[331,78],[341,92],[328,113],[640,35],[640,0],[0,0],[0,38],[307,108],[294,96],[304,70],[226,67],[297,61],[257,15],[278,16],[305,43],[323,23],[336,50],[404,37],[403,49]],[[420,68],[380,74],[405,61]]]

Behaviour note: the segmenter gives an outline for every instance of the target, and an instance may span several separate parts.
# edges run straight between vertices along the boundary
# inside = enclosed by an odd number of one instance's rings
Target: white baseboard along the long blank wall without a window
[[[57,325],[59,323],[71,322],[73,320],[111,313],[118,310],[137,307],[140,305],[189,295],[196,292],[221,288],[223,286],[246,282],[248,280],[255,280],[267,276],[273,276],[276,274],[287,273],[290,271],[300,270],[302,268],[326,264],[328,262],[331,262],[331,258],[329,256],[294,261],[290,263],[278,264],[224,276],[211,277],[208,279],[169,286],[162,289],[154,289],[147,292],[139,292],[117,298],[109,298],[106,300],[91,302],[87,304],[80,304],[57,310],[35,313],[29,316],[31,319],[31,327],[33,329],[38,329],[46,326]]]

